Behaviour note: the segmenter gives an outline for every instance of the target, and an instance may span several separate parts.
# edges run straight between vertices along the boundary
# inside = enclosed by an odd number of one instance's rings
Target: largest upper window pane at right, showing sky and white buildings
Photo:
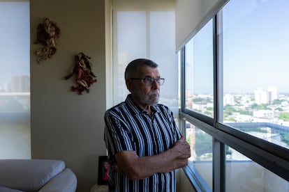
[[[289,148],[289,1],[223,8],[223,123]]]

